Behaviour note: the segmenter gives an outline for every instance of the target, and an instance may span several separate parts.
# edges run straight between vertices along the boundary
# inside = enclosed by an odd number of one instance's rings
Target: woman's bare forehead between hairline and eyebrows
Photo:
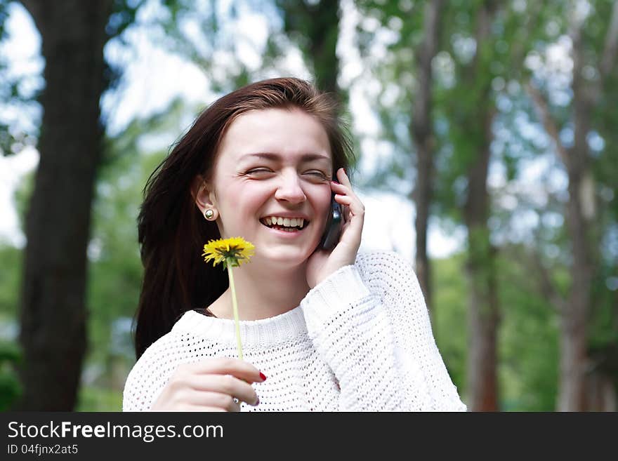
[[[301,109],[260,109],[238,116],[219,147],[219,160],[246,161],[254,153],[277,154],[294,160],[306,154],[331,158],[328,135],[322,123]]]

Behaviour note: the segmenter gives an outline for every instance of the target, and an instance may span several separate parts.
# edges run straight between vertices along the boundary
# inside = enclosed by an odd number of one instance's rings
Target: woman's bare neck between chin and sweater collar
[[[268,319],[300,305],[309,292],[305,264],[273,268],[251,261],[251,264],[233,267],[239,319]],[[220,319],[233,319],[231,288],[225,290],[209,310]]]

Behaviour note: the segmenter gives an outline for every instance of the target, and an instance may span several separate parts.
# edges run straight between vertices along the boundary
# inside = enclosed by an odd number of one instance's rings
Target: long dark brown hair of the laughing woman
[[[228,289],[221,267],[204,264],[202,246],[221,238],[216,222],[206,221],[191,187],[211,178],[219,144],[237,116],[250,110],[299,108],[322,123],[331,147],[333,171],[348,168],[353,156],[346,124],[329,93],[295,78],[251,83],[213,102],[152,172],[138,216],[144,279],[136,312],[137,359],[171,330],[190,309],[204,308]]]

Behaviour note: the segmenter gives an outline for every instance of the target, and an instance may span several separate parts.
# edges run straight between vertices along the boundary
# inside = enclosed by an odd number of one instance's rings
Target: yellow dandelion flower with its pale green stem
[[[255,247],[253,243],[244,240],[242,237],[231,237],[230,239],[211,240],[204,245],[204,262],[213,261],[213,267],[223,262],[223,267],[228,269],[230,279],[230,290],[232,291],[232,312],[234,313],[234,324],[236,330],[236,349],[239,359],[242,360],[242,342],[240,340],[240,325],[238,319],[238,302],[236,300],[236,288],[234,286],[234,274],[232,267],[238,267],[243,262],[248,262],[253,256]]]

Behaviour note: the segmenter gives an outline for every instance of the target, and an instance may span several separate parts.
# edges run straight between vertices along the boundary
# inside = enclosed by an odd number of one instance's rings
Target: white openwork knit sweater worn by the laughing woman
[[[268,377],[243,411],[466,410],[396,253],[361,253],[300,306],[240,330],[244,360]],[[234,321],[186,312],[133,366],[122,409],[149,410],[180,363],[217,356],[236,356]]]

